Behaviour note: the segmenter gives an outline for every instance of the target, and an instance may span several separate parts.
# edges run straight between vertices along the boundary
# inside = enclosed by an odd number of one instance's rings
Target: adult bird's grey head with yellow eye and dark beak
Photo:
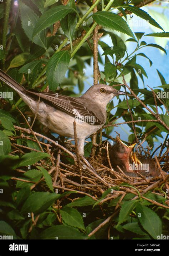
[[[92,97],[99,105],[106,108],[109,101],[118,95],[126,95],[125,92],[118,91],[113,87],[106,84],[95,84],[92,85],[82,97]]]

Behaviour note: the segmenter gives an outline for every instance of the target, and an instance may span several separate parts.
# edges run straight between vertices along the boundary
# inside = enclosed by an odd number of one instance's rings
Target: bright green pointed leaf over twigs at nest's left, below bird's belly
[[[38,162],[40,159],[45,158],[45,157],[50,157],[49,154],[44,153],[44,152],[31,152],[31,153],[26,153],[24,156],[20,158],[20,163],[19,166],[27,166],[27,165],[32,165],[36,162]]]

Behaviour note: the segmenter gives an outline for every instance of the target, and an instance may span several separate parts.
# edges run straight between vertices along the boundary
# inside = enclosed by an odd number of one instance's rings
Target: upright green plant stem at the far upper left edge
[[[3,49],[6,48],[6,34],[7,34],[7,26],[8,26],[8,20],[9,20],[10,6],[11,6],[11,0],[6,0],[4,26],[3,26],[3,32],[2,32]],[[4,53],[4,57],[2,59],[2,64],[3,64],[3,70],[5,70],[5,53]]]

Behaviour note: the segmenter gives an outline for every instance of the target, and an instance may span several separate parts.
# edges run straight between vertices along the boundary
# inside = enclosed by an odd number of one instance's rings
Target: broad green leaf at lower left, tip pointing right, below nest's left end
[[[32,193],[24,205],[22,206],[21,213],[27,215],[28,212],[40,213],[50,207],[58,198],[59,194],[48,192]]]

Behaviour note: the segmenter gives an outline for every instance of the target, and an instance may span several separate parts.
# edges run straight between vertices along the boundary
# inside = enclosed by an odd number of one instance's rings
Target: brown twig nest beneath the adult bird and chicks
[[[32,133],[30,129],[17,126],[15,126],[15,129],[22,132],[22,139],[26,138],[36,141],[36,139],[28,135]],[[167,182],[169,175],[164,175],[161,166],[160,175],[158,177],[146,178],[140,174],[140,177],[133,178],[127,176],[121,169],[117,172],[110,166],[104,165],[107,157],[106,154],[98,153],[96,156],[88,158],[80,157],[78,154],[73,154],[61,145],[56,146],[55,141],[52,141],[52,139],[47,138],[42,134],[36,132],[33,134],[35,138],[39,136],[43,139],[47,139],[51,143],[47,144],[41,140],[39,141],[40,145],[43,145],[43,151],[50,154],[51,162],[48,163],[42,159],[40,160],[41,163],[36,163],[34,166],[36,167],[41,165],[47,169],[48,173],[52,176],[53,188],[58,189],[59,193],[63,193],[65,191],[76,191],[79,194],[78,196],[89,196],[97,201],[98,198],[107,191],[107,189],[118,186],[118,190],[114,190],[113,194],[108,193],[108,195],[104,197],[103,201],[108,201],[112,198],[118,197],[119,195],[123,195],[124,197],[127,193],[133,193],[135,195],[135,199],[138,197],[145,198],[144,194],[149,190],[153,190],[153,193],[164,196],[162,189],[159,188],[163,187],[164,190],[169,189]],[[37,151],[36,149],[17,145],[15,143],[15,137],[11,137],[11,143],[12,147],[15,149],[14,151],[17,149],[23,153],[24,148],[26,148],[26,150],[29,149],[30,151]],[[52,144],[55,144],[56,152],[53,152],[50,149]],[[168,160],[169,157],[164,155],[158,161],[162,163],[163,168],[164,166],[165,168],[168,168]],[[43,189],[47,190],[43,180],[44,179],[42,178],[40,181],[32,184],[31,189],[39,189],[39,186],[42,186]],[[77,198],[77,195],[75,195],[75,198]],[[166,203],[168,203],[169,196],[166,196],[166,198]],[[152,201],[155,205],[165,208],[167,207],[154,200],[147,200]]]

